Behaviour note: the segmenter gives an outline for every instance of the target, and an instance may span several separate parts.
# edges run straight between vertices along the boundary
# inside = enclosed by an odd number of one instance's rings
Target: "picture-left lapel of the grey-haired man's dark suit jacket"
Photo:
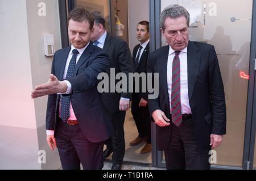
[[[159,86],[163,86],[164,96],[167,103],[169,102],[168,87],[167,87],[167,62],[169,56],[169,45],[163,50],[162,57],[159,61],[159,67],[161,72],[159,72]]]

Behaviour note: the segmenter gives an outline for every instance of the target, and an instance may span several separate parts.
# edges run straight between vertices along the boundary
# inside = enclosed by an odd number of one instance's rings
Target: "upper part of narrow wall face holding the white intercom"
[[[46,3],[46,16],[38,15],[38,4]],[[53,57],[44,56],[43,36],[54,35],[55,50],[61,48],[59,5],[57,0],[27,0],[27,26],[30,45],[32,85],[46,82]],[[47,96],[35,99],[36,124],[45,125]]]

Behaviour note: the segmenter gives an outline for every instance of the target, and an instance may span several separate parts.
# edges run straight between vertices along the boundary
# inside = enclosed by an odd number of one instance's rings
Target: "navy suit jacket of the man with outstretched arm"
[[[57,50],[53,57],[51,73],[59,80],[63,79],[70,49],[71,47]],[[108,65],[108,54],[90,43],[76,64],[76,76],[67,79],[72,85],[71,104],[77,121],[82,133],[91,142],[107,140],[112,133],[109,113],[105,110],[101,94],[97,91],[97,75],[105,71]],[[57,94],[49,95],[47,104],[46,129],[55,130],[55,133],[59,98]]]

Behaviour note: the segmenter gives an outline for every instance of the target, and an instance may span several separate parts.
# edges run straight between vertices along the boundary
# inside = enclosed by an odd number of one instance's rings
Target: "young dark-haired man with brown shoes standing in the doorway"
[[[137,39],[140,44],[133,49],[134,71],[138,74],[147,73],[147,56],[149,53],[149,23],[139,22],[137,25]],[[143,80],[146,81],[146,80]],[[135,85],[135,83],[134,83]],[[151,121],[147,106],[147,92],[142,92],[142,80],[139,81],[139,92],[133,92],[131,101],[131,113],[138,129],[138,137],[130,142],[130,146],[138,145],[146,141],[146,145],[141,150],[141,154],[151,151]]]

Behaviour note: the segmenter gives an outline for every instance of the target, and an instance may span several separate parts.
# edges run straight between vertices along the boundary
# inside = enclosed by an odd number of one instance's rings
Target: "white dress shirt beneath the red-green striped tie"
[[[167,86],[168,95],[170,103],[170,113],[171,108],[171,93],[172,93],[172,61],[174,60],[175,50],[171,47],[168,54],[167,62]],[[180,51],[180,102],[181,102],[181,112],[182,114],[191,114],[191,108],[189,106],[188,98],[188,57],[187,57],[187,47]]]

